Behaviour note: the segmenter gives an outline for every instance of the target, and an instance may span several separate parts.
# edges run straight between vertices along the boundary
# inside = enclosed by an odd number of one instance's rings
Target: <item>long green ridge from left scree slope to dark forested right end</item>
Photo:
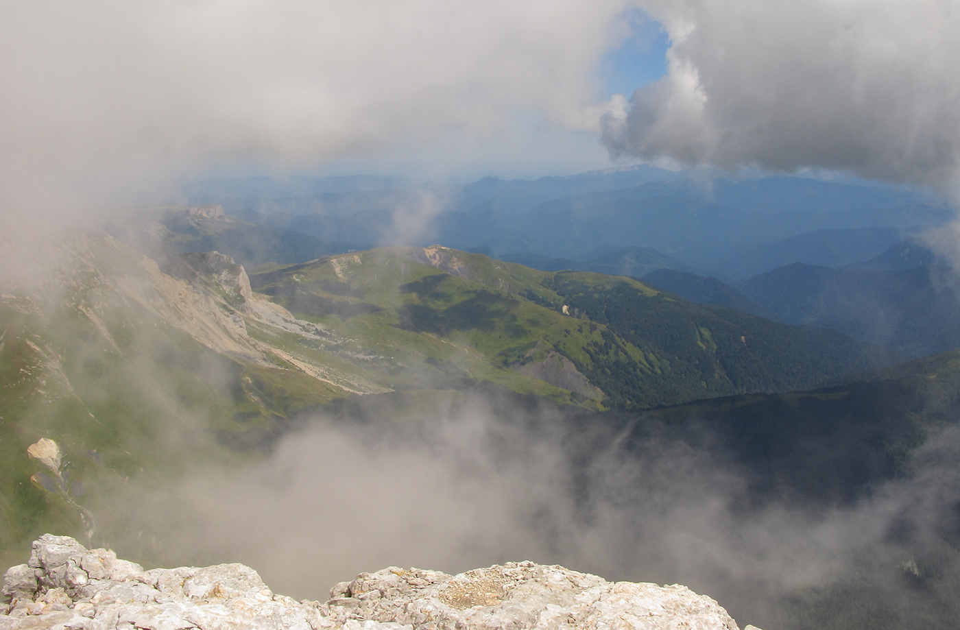
[[[867,363],[839,333],[440,247],[251,279],[227,255],[161,269],[110,238],[78,239],[61,258],[0,302],[0,548],[43,530],[106,535],[89,518],[125,479],[249,459],[336,400],[409,392],[416,407],[480,385],[639,409],[811,386]],[[62,467],[27,454],[41,438],[58,443]]]

